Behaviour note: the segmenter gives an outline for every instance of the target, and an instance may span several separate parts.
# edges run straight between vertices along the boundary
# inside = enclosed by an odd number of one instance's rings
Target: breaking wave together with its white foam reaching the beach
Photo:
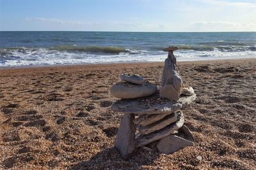
[[[220,57],[255,57],[256,46],[188,46],[179,45],[177,60],[221,59]],[[0,66],[39,66],[55,64],[95,64],[113,62],[163,61],[167,53],[147,48],[138,50],[116,46],[24,46],[0,48]],[[246,49],[246,50],[245,50]]]

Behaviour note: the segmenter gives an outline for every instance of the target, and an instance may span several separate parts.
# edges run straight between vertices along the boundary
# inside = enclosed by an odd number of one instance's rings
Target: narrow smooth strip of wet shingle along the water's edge
[[[230,61],[230,62],[237,62],[239,60],[256,60],[256,57],[248,57],[248,58],[235,58],[235,59],[208,59],[208,60],[182,60],[179,61],[177,60],[177,63],[190,63],[190,62],[198,62],[198,63],[204,63],[204,62],[226,62],[226,61]],[[148,61],[148,62],[111,62],[111,63],[97,63],[97,64],[56,64],[56,65],[43,65],[43,66],[0,66],[0,71],[2,70],[12,70],[12,69],[47,69],[47,68],[62,68],[62,67],[102,67],[102,66],[109,66],[109,67],[113,67],[113,66],[129,66],[129,65],[144,65],[144,64],[163,64],[163,61]]]

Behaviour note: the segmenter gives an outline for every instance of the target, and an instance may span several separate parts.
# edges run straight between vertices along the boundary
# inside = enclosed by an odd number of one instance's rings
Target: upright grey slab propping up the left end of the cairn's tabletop
[[[128,159],[135,148],[136,125],[133,123],[134,114],[125,114],[120,123],[115,140],[115,147],[122,156],[122,159]]]

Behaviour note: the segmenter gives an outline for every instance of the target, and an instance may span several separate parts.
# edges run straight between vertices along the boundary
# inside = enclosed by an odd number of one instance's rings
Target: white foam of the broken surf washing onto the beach
[[[194,50],[175,51],[178,61],[256,58],[255,51],[221,52],[214,50],[202,52]],[[4,57],[6,59],[4,59]],[[115,55],[96,55],[86,52],[67,52],[38,48],[36,50],[12,50],[12,55],[0,59],[0,66],[44,66],[56,64],[100,64],[116,62],[156,62],[164,61],[166,52],[129,50]],[[8,59],[10,57],[10,59]]]

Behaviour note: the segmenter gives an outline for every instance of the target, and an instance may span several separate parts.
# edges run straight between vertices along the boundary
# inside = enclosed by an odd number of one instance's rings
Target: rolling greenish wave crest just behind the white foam
[[[207,45],[178,45],[180,52],[246,52],[246,51],[256,51],[256,46],[207,46]],[[145,49],[133,49],[124,48],[120,46],[77,46],[77,45],[62,45],[62,46],[50,46],[45,48],[35,48],[35,47],[10,47],[10,48],[0,48],[0,57],[5,55],[12,55],[12,53],[36,53],[39,51],[49,51],[54,53],[57,52],[70,52],[70,53],[94,53],[97,55],[112,55],[112,54],[122,54],[122,55],[144,55],[145,53],[159,53],[163,51],[164,46],[150,46]]]

